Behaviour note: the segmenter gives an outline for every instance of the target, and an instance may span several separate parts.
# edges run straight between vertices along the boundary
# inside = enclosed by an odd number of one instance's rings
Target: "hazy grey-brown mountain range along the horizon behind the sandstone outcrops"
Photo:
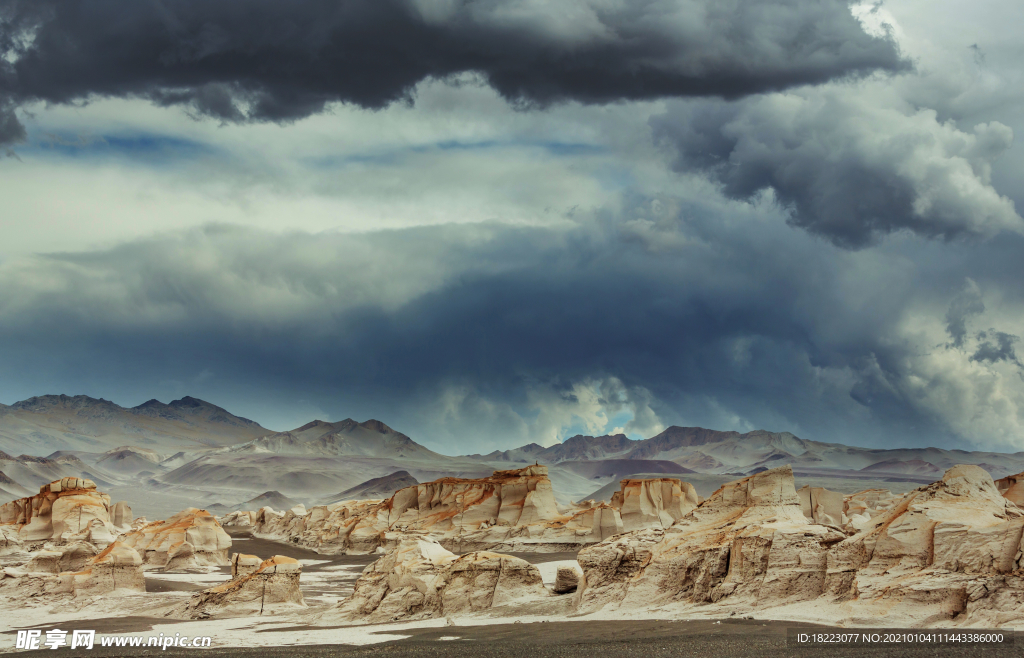
[[[956,464],[981,466],[995,478],[1024,471],[1024,452],[872,449],[788,432],[687,427],[643,440],[578,435],[548,447],[445,455],[377,420],[316,420],[274,432],[191,397],[122,407],[45,395],[0,405],[0,494],[8,498],[59,477],[84,476],[152,515],[196,505],[238,509],[268,491],[279,502],[307,506],[385,497],[416,482],[534,463],[549,467],[560,503],[606,497],[618,479],[640,474],[680,477],[707,495],[736,476],[786,464],[806,482],[850,491],[912,488]]]

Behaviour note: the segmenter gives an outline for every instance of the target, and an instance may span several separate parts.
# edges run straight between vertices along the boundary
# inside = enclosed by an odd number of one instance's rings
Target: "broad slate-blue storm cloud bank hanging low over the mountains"
[[[665,424],[876,445],[1021,438],[1006,411],[974,418],[997,394],[991,375],[971,380],[988,348],[968,338],[971,351],[932,359],[901,330],[931,313],[941,333],[965,271],[985,290],[985,268],[1024,273],[1019,238],[945,247],[955,258],[920,243],[879,255],[742,210],[630,207],[571,230],[216,228],[12,265],[0,346],[17,353],[0,352],[0,380],[139,401],[175,380],[257,414],[301,399],[450,451],[537,438],[509,428],[587,382]]]

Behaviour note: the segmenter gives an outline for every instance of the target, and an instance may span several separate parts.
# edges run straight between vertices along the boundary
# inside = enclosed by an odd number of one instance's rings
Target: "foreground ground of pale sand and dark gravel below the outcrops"
[[[169,608],[187,600],[190,593],[229,578],[229,568],[199,572],[150,571],[150,591],[108,597],[93,603],[71,601],[0,601],[0,653],[12,651],[17,629],[92,629],[100,634],[141,633],[144,635],[209,635],[213,648],[204,651],[225,656],[259,656],[281,653],[274,648],[292,647],[289,656],[328,656],[339,653],[388,656],[755,656],[804,655],[820,650],[794,649],[787,654],[785,628],[817,622],[830,625],[846,619],[848,626],[909,626],[909,619],[879,611],[876,617],[851,618],[842,604],[804,602],[759,611],[756,619],[737,608],[730,618],[728,607],[669,606],[644,611],[601,611],[575,617],[571,595],[478,615],[449,619],[376,625],[324,625],[317,618],[349,596],[366,565],[376,556],[321,556],[287,543],[233,533],[233,552],[261,558],[285,555],[303,565],[301,586],[307,608],[276,616],[258,618],[176,620],[164,617]],[[519,554],[538,566],[544,582],[554,582],[559,565],[575,564],[575,555]],[[863,614],[863,613],[860,613]],[[512,623],[514,622],[514,623]],[[844,625],[844,624],[841,624]],[[781,634],[780,634],[781,633]],[[370,646],[376,648],[368,648]],[[301,647],[301,648],[300,648]],[[360,647],[362,649],[360,649]],[[228,649],[238,648],[238,649]],[[260,648],[257,654],[253,648]],[[1024,640],[1022,640],[1024,648]],[[143,655],[154,649],[126,650],[98,648],[84,655]],[[190,650],[197,651],[195,649]],[[633,653],[631,653],[631,651]],[[824,655],[867,655],[864,650],[825,652]],[[871,655],[877,655],[874,650]],[[886,649],[887,656],[947,655],[944,649]],[[956,655],[975,655],[961,648]],[[982,651],[982,650],[978,650]],[[1010,653],[1008,653],[1010,651]],[[168,649],[167,652],[175,653]],[[1016,652],[1016,653],[1014,653]],[[166,653],[166,652],[162,652]],[[177,651],[181,653],[181,651]],[[282,655],[285,655],[284,653]],[[948,654],[952,655],[952,654]],[[977,655],[1024,655],[1014,649],[985,649]]]

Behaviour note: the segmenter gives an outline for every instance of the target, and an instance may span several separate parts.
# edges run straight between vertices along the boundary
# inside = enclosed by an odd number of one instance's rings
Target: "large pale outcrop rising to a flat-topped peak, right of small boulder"
[[[808,522],[790,467],[765,471],[724,485],[670,528],[581,551],[579,608],[806,601],[821,594],[827,551],[845,536]]]

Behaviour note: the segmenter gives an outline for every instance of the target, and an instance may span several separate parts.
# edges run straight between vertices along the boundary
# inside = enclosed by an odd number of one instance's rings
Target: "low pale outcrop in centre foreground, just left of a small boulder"
[[[480,612],[551,596],[525,560],[488,552],[457,556],[432,539],[406,539],[368,566],[329,615],[367,623]]]

